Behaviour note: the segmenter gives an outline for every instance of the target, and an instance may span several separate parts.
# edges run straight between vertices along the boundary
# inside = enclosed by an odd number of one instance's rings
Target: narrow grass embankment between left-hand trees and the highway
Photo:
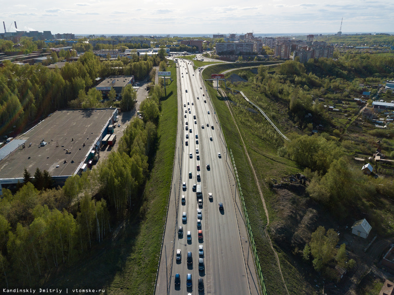
[[[52,286],[104,288],[108,294],[152,294],[171,186],[177,124],[176,68],[161,100],[158,150],[138,209],[112,240],[105,240],[74,267],[62,270]],[[137,208],[136,204],[136,208]],[[115,229],[116,229],[115,228]],[[113,228],[114,230],[114,228]]]

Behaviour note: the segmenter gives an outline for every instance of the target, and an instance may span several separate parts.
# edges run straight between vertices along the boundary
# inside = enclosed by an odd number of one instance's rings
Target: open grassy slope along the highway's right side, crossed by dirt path
[[[213,66],[204,70],[204,77],[208,78],[212,73],[220,73],[230,69],[231,67],[235,68],[248,66],[245,64],[252,64],[253,66],[256,65],[256,63],[242,63]],[[248,210],[248,215],[258,249],[258,255],[260,258],[260,264],[263,270],[267,291],[269,294],[284,294],[285,289],[279,275],[276,259],[264,232],[264,227],[267,225],[267,220],[263,203],[258,193],[251,167],[244,153],[239,133],[234,125],[231,114],[225,104],[223,97],[218,95],[216,90],[211,86],[208,86],[208,90],[210,91],[212,101],[215,105],[219,120],[222,124],[226,142],[234,155],[235,164],[237,166],[237,171],[245,198],[245,204]],[[249,88],[237,90],[243,90],[248,93],[247,95],[251,95],[251,97],[260,95],[252,93],[253,90]],[[252,163],[254,163],[254,168],[257,171],[259,181],[262,185],[264,198],[268,207],[270,223],[272,223],[277,218],[276,213],[272,208],[273,203],[277,202],[277,197],[268,188],[268,186],[265,185],[265,179],[299,172],[300,169],[292,161],[277,156],[277,146],[275,146],[271,134],[267,133],[264,135],[258,131],[259,128],[267,128],[266,125],[268,123],[264,118],[261,120],[256,120],[256,117],[262,117],[262,115],[251,113],[245,107],[234,106],[234,104],[230,105],[236,125],[240,129],[243,141],[251,157]],[[242,102],[238,101],[238,105],[242,105]],[[268,127],[268,129],[269,128],[270,127]],[[298,270],[293,267],[293,262],[289,261],[285,253],[281,252],[280,248],[278,248],[275,244],[274,247],[278,252],[283,276],[290,294],[307,293],[307,284]]]

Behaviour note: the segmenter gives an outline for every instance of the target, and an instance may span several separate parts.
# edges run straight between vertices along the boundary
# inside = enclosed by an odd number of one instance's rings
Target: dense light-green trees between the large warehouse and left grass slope
[[[141,111],[160,110],[156,85]],[[66,180],[63,188],[41,190],[26,182],[14,195],[0,199],[0,282],[33,286],[60,265],[78,261],[111,232],[127,209],[139,205],[157,147],[159,113],[135,118],[119,141],[119,149],[97,169]],[[38,172],[36,171],[38,175]],[[25,176],[31,179],[25,169]],[[36,175],[34,175],[36,176]],[[32,181],[36,185],[36,180]]]

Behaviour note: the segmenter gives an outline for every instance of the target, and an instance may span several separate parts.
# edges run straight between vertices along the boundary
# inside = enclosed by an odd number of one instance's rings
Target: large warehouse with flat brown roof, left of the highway
[[[0,149],[0,195],[23,183],[25,168],[50,172],[56,186],[81,174],[98,159],[117,116],[117,108],[60,110],[10,140]]]

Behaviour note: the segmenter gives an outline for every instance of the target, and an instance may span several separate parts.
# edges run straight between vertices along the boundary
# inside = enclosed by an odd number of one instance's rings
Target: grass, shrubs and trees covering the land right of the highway
[[[204,70],[204,77],[219,74],[227,67],[209,67]],[[290,293],[307,294],[316,289],[313,279],[319,275],[336,281],[337,267],[348,270],[347,276],[360,277],[358,269],[365,261],[358,257],[357,249],[344,244],[352,238],[346,225],[367,218],[378,236],[393,234],[394,219],[387,215],[393,208],[391,176],[366,176],[361,172],[365,163],[354,160],[358,156],[371,157],[378,140],[384,140],[380,144],[382,153],[394,156],[392,125],[388,124],[384,131],[367,121],[361,125],[359,112],[365,104],[359,106],[354,100],[361,99],[363,91],[370,91],[374,99],[377,95],[379,100],[393,100],[391,91],[378,92],[379,84],[393,78],[393,68],[393,59],[387,55],[346,54],[337,61],[310,60],[305,65],[297,60],[287,61],[275,68],[260,66],[226,74],[227,86],[241,90],[263,109],[290,142],[284,141],[240,94],[227,91],[222,97],[206,82],[226,142],[234,154],[258,253],[265,257],[260,263],[270,294],[282,294],[282,282],[276,268],[268,267],[276,263],[263,235],[264,210],[259,194],[253,191],[255,186],[250,185],[254,182],[251,170],[243,148],[236,145],[239,134],[233,131],[235,126],[231,126],[225,102],[228,101],[252,163],[256,163],[254,169],[269,211],[268,231],[275,242],[286,285]],[[330,111],[328,106],[339,112]],[[387,170],[393,167],[369,163]],[[297,174],[303,174],[303,178],[297,179]],[[323,252],[321,247],[315,247],[319,251],[312,250],[316,244],[327,247]]]

